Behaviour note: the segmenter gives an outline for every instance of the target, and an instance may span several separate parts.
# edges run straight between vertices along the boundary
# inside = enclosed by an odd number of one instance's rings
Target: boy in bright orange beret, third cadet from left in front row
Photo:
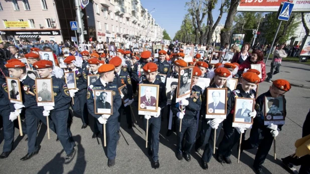
[[[107,135],[107,157],[108,157],[108,166],[111,167],[115,165],[116,157],[116,145],[117,145],[117,123],[119,112],[118,109],[121,105],[121,96],[118,92],[116,83],[113,83],[114,79],[114,65],[103,64],[99,67],[98,72],[100,73],[100,78],[89,85],[87,91],[87,107],[90,114],[97,118],[97,125],[101,134],[103,134],[102,124],[106,124],[106,135]],[[94,90],[112,90],[113,97],[113,111],[112,115],[99,115],[95,114],[94,108]]]

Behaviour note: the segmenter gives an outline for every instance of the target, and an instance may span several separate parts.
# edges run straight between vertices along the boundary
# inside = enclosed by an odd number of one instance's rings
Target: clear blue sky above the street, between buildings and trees
[[[148,12],[155,8],[156,11],[151,13],[151,16],[157,24],[166,29],[170,38],[173,39],[176,32],[180,30],[185,15],[188,13],[185,3],[190,2],[190,0],[140,0],[140,2]],[[218,3],[212,11],[214,22],[220,14],[220,6],[221,4]],[[224,13],[219,24],[225,24],[226,18],[227,13]],[[204,23],[207,22],[207,16],[204,21]]]

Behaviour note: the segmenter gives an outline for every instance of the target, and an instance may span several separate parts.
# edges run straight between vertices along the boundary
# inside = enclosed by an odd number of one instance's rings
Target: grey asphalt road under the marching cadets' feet
[[[298,65],[298,64],[297,64]],[[296,68],[294,71],[298,71]],[[290,73],[295,73],[295,72]],[[281,73],[279,78],[281,76]],[[307,77],[304,74],[304,77]],[[295,79],[302,77],[296,76]],[[271,83],[262,82],[259,85],[259,94],[266,92]],[[273,159],[273,148],[263,164],[266,173],[287,173],[281,165],[281,157],[294,152],[294,142],[301,137],[301,126],[309,110],[310,89],[292,87],[285,94],[287,100],[287,117],[282,131],[276,137],[277,159]],[[134,103],[136,105],[136,103]],[[253,161],[256,149],[244,151],[237,163],[237,146],[233,148],[231,156],[232,164],[221,164],[212,158],[207,171],[200,167],[199,161],[203,150],[200,153],[192,150],[190,162],[176,158],[176,134],[166,137],[166,118],[162,122],[160,135],[159,169],[153,169],[150,165],[151,158],[147,155],[145,148],[145,133],[142,120],[137,117],[137,109],[133,108],[137,124],[133,129],[128,130],[125,117],[121,121],[121,138],[117,146],[116,164],[114,167],[107,166],[107,157],[103,150],[103,137],[92,139],[92,131],[88,126],[81,129],[81,119],[74,117],[71,125],[73,138],[76,141],[77,152],[71,162],[65,161],[65,152],[60,144],[56,142],[56,134],[51,132],[51,139],[48,139],[46,126],[42,125],[38,134],[38,143],[41,144],[39,153],[27,161],[20,158],[27,153],[27,141],[19,136],[16,129],[14,151],[6,159],[0,160],[0,173],[254,173]],[[166,117],[166,115],[165,115]],[[91,118],[91,117],[90,117]],[[91,118],[92,119],[92,118]],[[134,118],[133,118],[134,121]],[[92,120],[90,121],[92,123]],[[249,136],[249,131],[246,134]],[[223,132],[220,134],[222,139]],[[3,133],[0,135],[0,145],[3,146]],[[219,143],[219,142],[218,142]],[[217,144],[218,144],[217,143]],[[298,167],[297,167],[298,168]]]

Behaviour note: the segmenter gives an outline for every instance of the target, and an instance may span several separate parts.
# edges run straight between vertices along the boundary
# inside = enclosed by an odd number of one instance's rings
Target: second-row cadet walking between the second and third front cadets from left
[[[96,54],[96,53],[93,53]],[[98,54],[97,54],[98,55]],[[99,55],[98,55],[99,57]],[[86,106],[86,93],[87,93],[87,76],[82,68],[82,58],[76,60],[75,56],[68,56],[64,62],[68,65],[69,71],[75,72],[76,89],[70,89],[70,96],[74,99],[72,109],[82,118],[82,129],[85,129],[88,125],[88,112]]]

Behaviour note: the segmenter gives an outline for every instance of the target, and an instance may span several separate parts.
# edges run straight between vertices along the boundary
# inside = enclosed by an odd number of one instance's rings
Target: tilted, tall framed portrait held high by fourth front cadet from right
[[[190,96],[192,92],[193,69],[194,66],[183,67],[179,69],[179,81],[176,102],[179,102],[182,98],[187,98]]]

